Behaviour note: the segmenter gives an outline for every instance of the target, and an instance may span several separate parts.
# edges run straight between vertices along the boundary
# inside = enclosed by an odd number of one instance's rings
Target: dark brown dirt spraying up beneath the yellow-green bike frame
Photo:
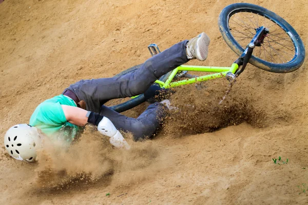
[[[221,82],[221,84],[219,84]],[[217,80],[176,89],[170,98],[175,110],[164,124],[165,134],[200,134],[213,132],[246,121],[256,127],[264,127],[264,110],[253,107],[243,93],[234,91],[219,105],[226,82]]]

